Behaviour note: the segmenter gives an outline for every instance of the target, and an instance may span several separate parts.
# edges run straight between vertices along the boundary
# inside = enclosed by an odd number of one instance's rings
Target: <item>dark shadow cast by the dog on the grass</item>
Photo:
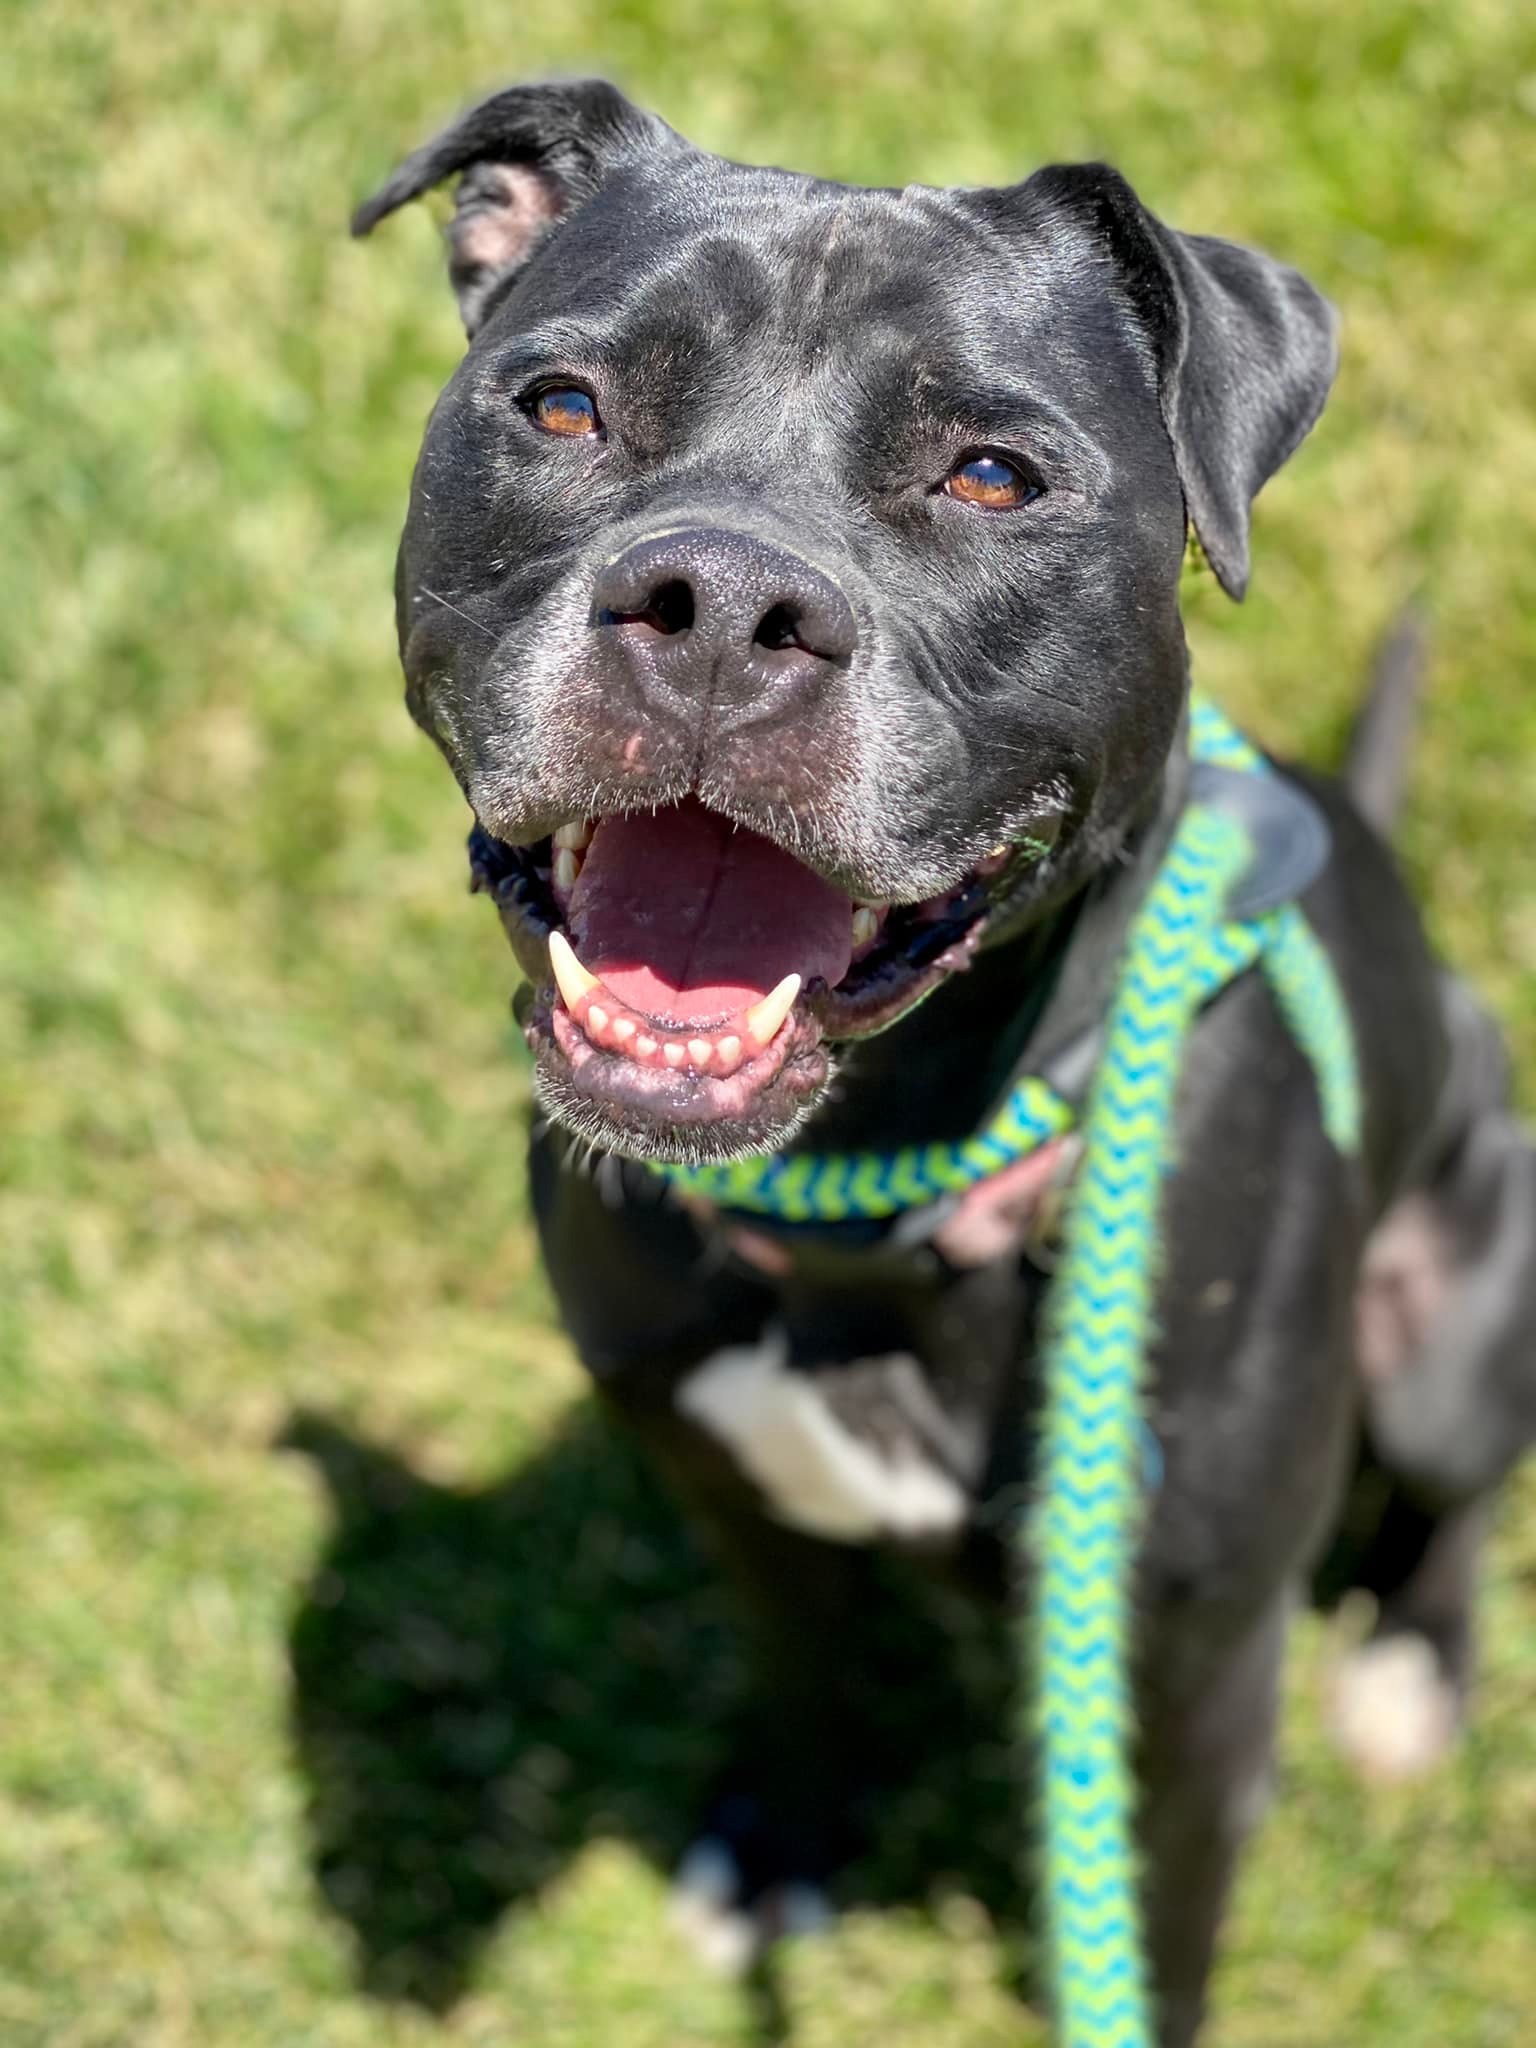
[[[594,1837],[676,1864],[725,1761],[729,1614],[596,1407],[479,1493],[315,1413],[283,1446],[317,1464],[336,1518],[291,1632],[315,1876],[362,1989],[442,2013],[502,1917]],[[918,1671],[932,1626],[913,1618]],[[932,1688],[903,1710],[913,1772],[840,1896],[926,1901],[942,1874],[1012,1917],[991,1716]],[[762,2036],[782,2038],[772,1976],[756,1991]]]

